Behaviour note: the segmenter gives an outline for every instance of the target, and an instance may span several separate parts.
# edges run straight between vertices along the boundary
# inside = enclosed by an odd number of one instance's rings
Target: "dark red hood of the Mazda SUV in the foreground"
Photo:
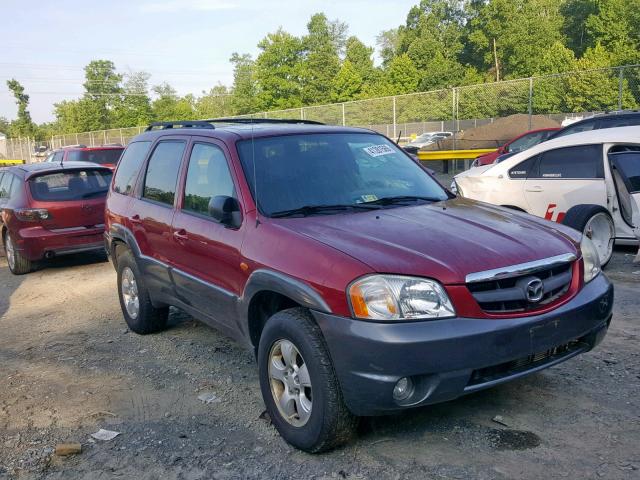
[[[445,284],[464,283],[473,272],[577,254],[575,239],[552,223],[464,198],[278,223],[376,272]]]

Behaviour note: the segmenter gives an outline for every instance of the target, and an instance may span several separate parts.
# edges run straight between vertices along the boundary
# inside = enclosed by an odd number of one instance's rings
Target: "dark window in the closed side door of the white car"
[[[601,145],[558,148],[539,155],[538,167],[530,177],[543,179],[604,178]]]

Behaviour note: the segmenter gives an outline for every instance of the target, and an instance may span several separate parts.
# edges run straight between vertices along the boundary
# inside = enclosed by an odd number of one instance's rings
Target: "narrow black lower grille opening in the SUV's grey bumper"
[[[533,368],[542,366],[546,363],[550,363],[554,360],[560,359],[576,350],[584,350],[587,348],[587,344],[580,340],[572,340],[558,347],[551,348],[544,352],[534,353],[526,357],[518,358],[511,362],[501,363],[492,367],[481,368],[474,370],[471,374],[471,379],[467,386],[474,386],[483,383],[492,382],[501,378],[509,377],[517,373],[526,372]]]

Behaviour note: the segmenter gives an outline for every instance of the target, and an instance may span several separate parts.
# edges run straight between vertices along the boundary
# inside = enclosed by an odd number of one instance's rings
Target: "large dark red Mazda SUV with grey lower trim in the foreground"
[[[604,337],[591,241],[455,197],[375,132],[152,125],[125,150],[106,244],[129,327],[177,306],[252,349],[273,424],[318,452],[356,418],[454,399]]]

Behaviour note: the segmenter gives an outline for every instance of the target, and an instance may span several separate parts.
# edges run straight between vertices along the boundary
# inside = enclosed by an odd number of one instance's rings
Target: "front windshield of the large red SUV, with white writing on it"
[[[314,206],[388,206],[382,200],[393,197],[402,197],[404,202],[413,197],[423,201],[448,198],[420,166],[380,135],[258,138],[238,142],[238,153],[254,198],[255,154],[257,203],[269,216]]]

